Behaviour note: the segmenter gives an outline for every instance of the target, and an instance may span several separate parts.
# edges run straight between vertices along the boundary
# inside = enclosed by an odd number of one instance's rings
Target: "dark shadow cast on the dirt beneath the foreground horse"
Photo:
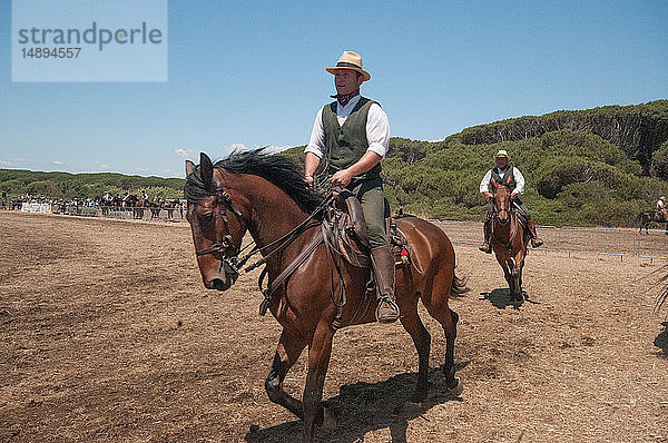
[[[456,364],[456,370],[469,362]],[[418,411],[404,408],[413,394],[416,373],[395,375],[384,382],[358,382],[341,387],[340,394],[323,402],[338,416],[334,431],[316,431],[316,441],[332,443],[363,442],[369,432],[390,429],[392,443],[406,442],[409,421],[419,417],[438,404],[459,401],[450,395],[445,376],[440,368],[429,371],[429,398]],[[465,395],[465,394],[464,394]],[[277,406],[278,407],[278,406]],[[426,419],[424,419],[426,420]],[[302,422],[295,420],[264,430],[250,426],[245,440],[248,443],[284,443],[302,441]]]

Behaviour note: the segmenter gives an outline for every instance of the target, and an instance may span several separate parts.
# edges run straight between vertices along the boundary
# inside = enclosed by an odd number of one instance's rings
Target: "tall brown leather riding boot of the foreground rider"
[[[399,318],[399,306],[394,297],[394,256],[392,246],[379,246],[371,249],[371,263],[375,274],[379,298],[376,319],[380,323],[392,323]]]

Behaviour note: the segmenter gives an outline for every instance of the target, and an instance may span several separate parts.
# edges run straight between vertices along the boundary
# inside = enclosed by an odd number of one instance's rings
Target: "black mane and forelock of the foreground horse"
[[[302,167],[287,157],[269,154],[266,148],[234,150],[229,157],[216,161],[214,168],[229,174],[250,174],[262,177],[283,189],[299,209],[307,214],[313,213],[323,199],[304,181]],[[215,195],[204,185],[199,165],[186,177],[184,191],[188,201],[197,201],[202,197]]]

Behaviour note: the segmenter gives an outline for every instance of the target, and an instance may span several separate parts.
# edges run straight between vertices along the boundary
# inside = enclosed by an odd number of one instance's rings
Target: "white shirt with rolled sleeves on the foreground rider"
[[[360,98],[361,96],[355,96],[345,106],[341,106],[340,102],[336,102],[336,119],[338,120],[338,125],[343,126],[360,101]],[[371,150],[381,157],[385,157],[387,148],[390,147],[390,121],[387,120],[387,115],[379,104],[372,104],[369,107],[369,116],[366,117],[366,140],[369,141],[369,148],[366,150]],[[306,146],[306,149],[304,149],[304,152],[313,152],[317,158],[323,158],[325,149],[323,108],[321,108],[315,116],[311,139],[308,140],[308,145]]]

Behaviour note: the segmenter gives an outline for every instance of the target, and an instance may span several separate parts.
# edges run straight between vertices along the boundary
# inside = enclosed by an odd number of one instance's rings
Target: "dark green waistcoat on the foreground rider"
[[[345,169],[357,163],[369,149],[366,139],[366,117],[369,108],[376,101],[361,97],[346,118],[343,126],[338,125],[336,118],[336,101],[325,105],[323,108],[323,128],[325,132],[325,149],[323,152],[328,160],[328,174]],[[381,176],[381,164],[371,168],[365,174],[356,176],[356,179],[375,179]]]

